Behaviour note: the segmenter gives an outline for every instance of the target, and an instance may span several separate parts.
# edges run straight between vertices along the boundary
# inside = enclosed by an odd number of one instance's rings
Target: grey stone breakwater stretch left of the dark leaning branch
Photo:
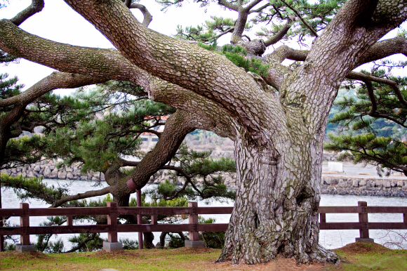
[[[105,180],[103,173],[81,173],[81,168],[76,165],[65,168],[57,168],[55,161],[41,161],[27,166],[18,166],[16,168],[4,169],[2,173],[8,176],[22,175],[28,178],[44,177],[48,179],[60,180]]]

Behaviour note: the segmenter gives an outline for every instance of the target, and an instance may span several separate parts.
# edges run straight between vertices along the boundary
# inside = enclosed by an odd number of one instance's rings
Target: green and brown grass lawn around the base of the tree
[[[407,270],[407,251],[389,250],[374,244],[349,244],[335,250],[340,265],[298,265],[279,258],[267,264],[231,265],[214,263],[219,249],[152,249],[143,251],[105,251],[67,254],[39,252],[0,253],[0,270]]]

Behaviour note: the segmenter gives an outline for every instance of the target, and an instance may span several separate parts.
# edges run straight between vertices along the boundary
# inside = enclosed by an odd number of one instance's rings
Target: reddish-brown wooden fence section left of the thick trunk
[[[230,214],[233,207],[198,207],[189,202],[188,207],[117,207],[107,202],[107,207],[86,208],[29,208],[21,203],[20,209],[0,209],[0,217],[20,216],[20,227],[0,227],[0,236],[20,235],[22,246],[29,245],[30,234],[72,234],[107,232],[108,242],[117,242],[117,232],[189,232],[191,241],[198,241],[198,232],[225,231],[228,223],[199,224],[198,215]],[[107,216],[107,225],[73,225],[73,216]],[[151,224],[117,224],[117,216],[151,216]],[[158,224],[157,215],[188,215],[188,224]],[[67,216],[65,226],[29,226],[30,216]]]

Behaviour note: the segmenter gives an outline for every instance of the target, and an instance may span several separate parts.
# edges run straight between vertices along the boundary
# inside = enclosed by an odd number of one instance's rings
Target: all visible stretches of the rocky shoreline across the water
[[[81,173],[78,166],[72,165],[66,168],[56,168],[55,161],[41,161],[29,166],[4,169],[2,173],[9,176],[22,175],[24,177],[44,177],[58,180],[105,180],[103,173]],[[155,178],[154,178],[155,177]],[[159,171],[152,177],[152,183],[161,183],[168,178],[167,171]],[[234,174],[224,176],[228,187],[236,188]],[[352,194],[360,196],[381,197],[407,197],[407,180],[372,179],[372,178],[345,178],[327,177],[321,179],[322,194]]]

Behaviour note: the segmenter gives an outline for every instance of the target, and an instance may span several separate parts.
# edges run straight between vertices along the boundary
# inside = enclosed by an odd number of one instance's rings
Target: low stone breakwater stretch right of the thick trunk
[[[322,194],[407,197],[407,180],[322,177]]]

